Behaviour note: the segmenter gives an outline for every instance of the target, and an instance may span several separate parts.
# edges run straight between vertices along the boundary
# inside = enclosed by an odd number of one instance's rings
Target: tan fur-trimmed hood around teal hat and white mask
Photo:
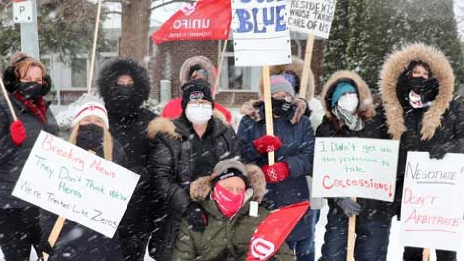
[[[372,119],[376,112],[374,99],[372,98],[369,86],[364,80],[362,80],[359,74],[346,70],[333,73],[322,88],[321,100],[326,116],[329,118],[335,117],[331,110],[332,94],[334,92],[334,87],[341,80],[350,80],[356,85],[355,87],[359,95],[359,107],[357,110],[358,115],[362,116],[365,120]]]

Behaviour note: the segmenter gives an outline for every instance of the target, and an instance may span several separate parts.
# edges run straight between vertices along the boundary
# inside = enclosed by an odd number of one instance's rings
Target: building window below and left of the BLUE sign
[[[221,53],[224,41],[219,42],[219,53]],[[232,40],[227,42],[224,63],[221,69],[220,90],[258,90],[259,80],[261,79],[261,67],[235,66]]]

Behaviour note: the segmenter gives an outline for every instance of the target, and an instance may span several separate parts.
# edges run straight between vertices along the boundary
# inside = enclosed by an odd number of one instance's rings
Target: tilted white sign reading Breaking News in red
[[[112,238],[139,175],[41,131],[12,195]]]

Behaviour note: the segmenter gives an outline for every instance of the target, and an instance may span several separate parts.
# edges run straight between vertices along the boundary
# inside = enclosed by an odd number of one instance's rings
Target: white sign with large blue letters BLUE
[[[286,0],[232,1],[235,66],[292,62]]]

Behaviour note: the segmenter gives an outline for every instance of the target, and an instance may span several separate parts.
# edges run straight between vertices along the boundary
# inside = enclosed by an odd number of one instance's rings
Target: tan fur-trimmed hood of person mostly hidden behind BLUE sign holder
[[[301,78],[303,77],[303,67],[304,67],[304,61],[296,56],[293,56],[292,63],[274,65],[274,66],[269,67],[269,74],[276,75],[276,74],[281,74],[284,72],[293,72],[298,77],[298,84],[301,84]],[[312,97],[314,97],[314,89],[315,89],[314,75],[311,69],[309,70],[308,83],[306,87],[307,87],[306,98],[311,99]],[[262,95],[262,90],[263,90],[263,82],[261,80],[260,82],[260,94],[261,95]]]

